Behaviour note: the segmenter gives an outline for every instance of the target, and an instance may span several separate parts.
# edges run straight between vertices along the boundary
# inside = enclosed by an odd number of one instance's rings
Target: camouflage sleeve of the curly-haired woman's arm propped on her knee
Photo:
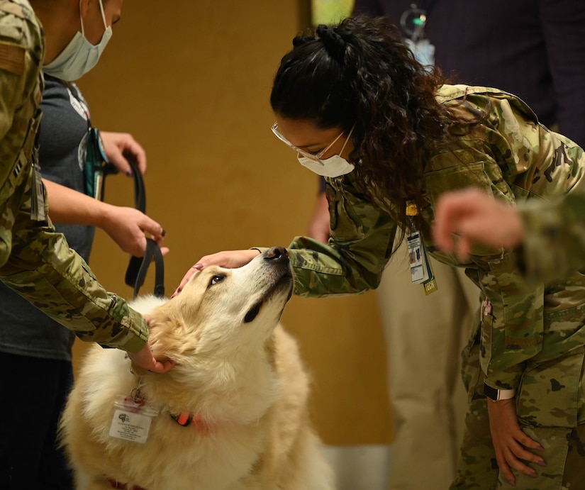
[[[470,98],[470,103],[474,100]],[[484,140],[496,165],[486,165],[494,196],[515,201],[555,199],[583,182],[582,150],[540,126],[521,101],[491,99]],[[486,384],[516,389],[525,364],[540,355],[545,335],[545,284],[527,284],[518,251],[477,257],[481,306],[481,367]]]

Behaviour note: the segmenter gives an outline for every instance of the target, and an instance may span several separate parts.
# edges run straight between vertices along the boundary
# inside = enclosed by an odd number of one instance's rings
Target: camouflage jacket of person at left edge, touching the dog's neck
[[[97,282],[43,209],[34,211],[40,204],[47,213],[34,168],[43,53],[28,1],[0,0],[0,280],[82,340],[136,352],[147,340],[144,318]]]

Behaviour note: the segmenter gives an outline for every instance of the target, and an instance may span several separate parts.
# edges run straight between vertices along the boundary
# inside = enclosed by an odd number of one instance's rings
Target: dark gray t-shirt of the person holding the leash
[[[39,147],[45,179],[84,192],[82,165],[89,110],[79,89],[45,75]],[[57,225],[69,245],[89,259],[93,226]],[[0,282],[0,352],[71,360],[74,334]]]

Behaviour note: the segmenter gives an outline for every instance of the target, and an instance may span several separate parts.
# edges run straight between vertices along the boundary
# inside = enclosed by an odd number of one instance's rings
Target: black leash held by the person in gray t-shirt
[[[146,213],[146,191],[143,176],[132,158],[128,158],[128,162],[130,162],[134,177],[134,206],[138,211]],[[134,298],[138,296],[138,291],[144,284],[148,267],[153,259],[155,262],[154,294],[158,298],[165,296],[165,264],[162,260],[162,252],[155,240],[147,238],[144,257],[130,257],[130,263],[128,263],[128,269],[126,269],[124,280],[128,286],[134,288]]]

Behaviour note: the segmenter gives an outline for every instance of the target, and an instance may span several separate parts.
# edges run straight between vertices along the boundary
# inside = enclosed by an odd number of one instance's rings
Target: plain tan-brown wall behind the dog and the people
[[[306,230],[316,177],[269,130],[272,77],[299,12],[292,0],[128,0],[100,64],[79,82],[94,126],[133,133],[147,150],[147,211],[171,249],[167,294],[202,255],[287,245]],[[131,180],[108,177],[106,200],[133,206]],[[127,262],[99,231],[91,266],[123,296],[132,294],[123,283]],[[313,372],[325,442],[389,442],[374,294],[293,298],[283,321]],[[82,348],[76,344],[77,359]]]

